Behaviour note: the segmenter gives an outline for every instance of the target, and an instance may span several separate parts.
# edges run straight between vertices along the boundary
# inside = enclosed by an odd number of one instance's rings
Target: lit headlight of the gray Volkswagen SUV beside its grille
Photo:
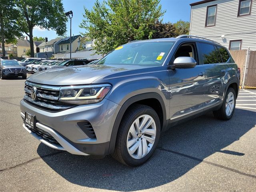
[[[78,105],[98,103],[110,89],[110,84],[62,87],[59,100]]]

